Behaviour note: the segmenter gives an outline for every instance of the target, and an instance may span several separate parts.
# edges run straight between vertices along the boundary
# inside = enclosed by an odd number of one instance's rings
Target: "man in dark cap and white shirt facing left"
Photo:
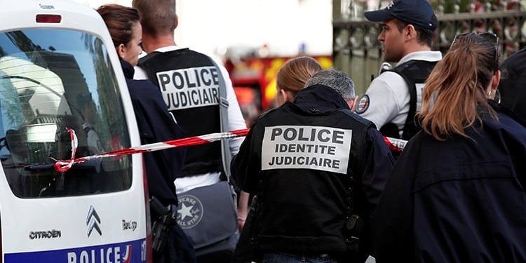
[[[414,114],[422,105],[424,81],[440,51],[431,50],[438,20],[427,0],[394,0],[365,18],[381,22],[384,61],[398,62],[374,79],[360,97],[356,112],[376,124],[384,136],[409,140],[420,130]]]

